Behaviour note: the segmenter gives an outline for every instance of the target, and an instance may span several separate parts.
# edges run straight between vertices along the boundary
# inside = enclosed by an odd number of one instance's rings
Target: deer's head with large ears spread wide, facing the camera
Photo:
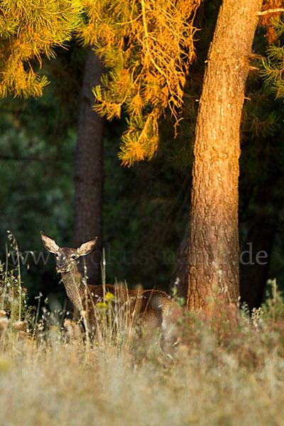
[[[72,271],[74,269],[77,258],[91,253],[97,242],[97,236],[95,236],[94,239],[81,244],[79,249],[70,249],[68,247],[58,246],[55,240],[50,238],[50,236],[46,235],[43,231],[40,231],[40,237],[43,240],[45,249],[50,251],[50,253],[55,254],[56,271],[61,273]]]

